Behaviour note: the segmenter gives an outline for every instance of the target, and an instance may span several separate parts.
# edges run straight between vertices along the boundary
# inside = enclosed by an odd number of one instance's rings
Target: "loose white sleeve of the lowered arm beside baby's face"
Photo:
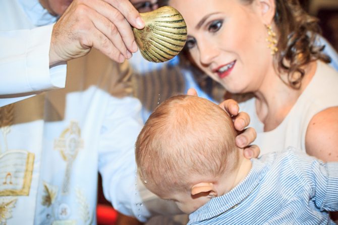
[[[142,128],[140,102],[131,97],[111,97],[102,122],[98,169],[105,198],[123,214],[145,221],[149,211],[142,207],[136,186],[134,145]]]

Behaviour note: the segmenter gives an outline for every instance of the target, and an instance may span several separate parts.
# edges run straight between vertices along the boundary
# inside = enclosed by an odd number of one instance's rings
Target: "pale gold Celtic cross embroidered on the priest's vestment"
[[[54,140],[54,149],[60,151],[63,160],[67,163],[62,194],[67,194],[69,192],[72,165],[78,152],[82,148],[83,139],[81,139],[81,129],[78,122],[71,121],[69,127],[61,133],[60,138]]]

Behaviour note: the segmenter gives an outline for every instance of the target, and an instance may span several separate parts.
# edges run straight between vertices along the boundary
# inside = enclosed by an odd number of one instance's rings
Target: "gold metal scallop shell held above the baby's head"
[[[133,28],[142,56],[151,62],[164,62],[174,58],[187,40],[187,25],[182,15],[170,6],[140,14],[145,27]]]

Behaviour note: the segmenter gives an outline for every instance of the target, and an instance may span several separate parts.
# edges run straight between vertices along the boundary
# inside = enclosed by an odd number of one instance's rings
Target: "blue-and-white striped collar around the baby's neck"
[[[258,186],[266,174],[268,167],[257,159],[253,159],[248,176],[230,192],[210,199],[205,205],[189,215],[189,223],[210,219],[235,208],[244,201]],[[215,208],[214,206],[217,205]]]

